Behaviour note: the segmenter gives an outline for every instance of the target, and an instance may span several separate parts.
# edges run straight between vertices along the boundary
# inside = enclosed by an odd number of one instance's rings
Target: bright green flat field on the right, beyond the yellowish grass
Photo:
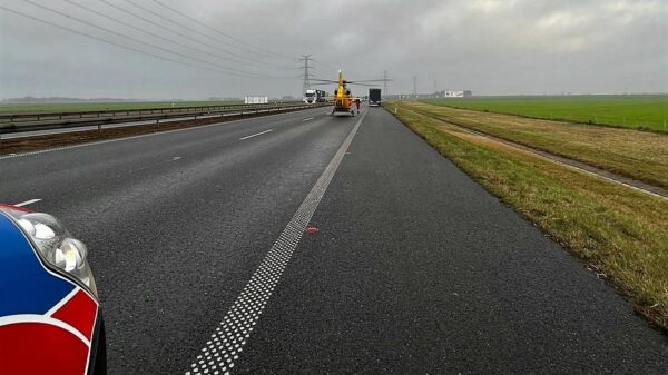
[[[668,132],[668,95],[439,98],[430,103]]]

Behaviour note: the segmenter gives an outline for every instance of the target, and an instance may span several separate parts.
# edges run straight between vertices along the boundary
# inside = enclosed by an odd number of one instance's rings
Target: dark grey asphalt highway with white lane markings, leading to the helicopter
[[[110,374],[668,374],[662,333],[390,114],[327,114],[0,158],[0,201],[88,245]]]

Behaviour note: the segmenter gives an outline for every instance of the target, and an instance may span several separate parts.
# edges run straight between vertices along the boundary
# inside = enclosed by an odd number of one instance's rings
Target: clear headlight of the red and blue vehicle
[[[48,265],[71,275],[97,297],[97,286],[86,257],[88,248],[72,238],[51,215],[7,210],[30,237],[39,257]]]

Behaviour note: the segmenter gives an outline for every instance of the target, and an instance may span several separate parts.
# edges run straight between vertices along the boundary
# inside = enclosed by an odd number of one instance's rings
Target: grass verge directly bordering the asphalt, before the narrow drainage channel
[[[666,200],[396,106],[401,121],[668,329]]]

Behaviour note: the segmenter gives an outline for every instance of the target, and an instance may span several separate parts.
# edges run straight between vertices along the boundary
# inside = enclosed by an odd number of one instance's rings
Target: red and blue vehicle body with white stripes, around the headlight
[[[105,373],[95,284],[45,261],[17,213],[0,206],[0,374]]]

